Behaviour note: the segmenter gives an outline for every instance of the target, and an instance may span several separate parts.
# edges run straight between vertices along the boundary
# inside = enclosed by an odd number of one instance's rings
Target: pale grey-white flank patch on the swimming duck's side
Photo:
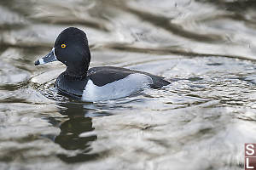
[[[119,99],[141,90],[149,88],[152,78],[143,74],[131,74],[124,79],[108,83],[102,87],[96,86],[91,80],[84,88],[82,99],[84,101],[103,101],[109,99]]]

